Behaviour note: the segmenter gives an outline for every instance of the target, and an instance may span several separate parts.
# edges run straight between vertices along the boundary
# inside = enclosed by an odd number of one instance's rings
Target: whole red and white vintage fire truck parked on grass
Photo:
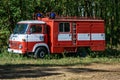
[[[75,17],[20,21],[9,38],[9,52],[46,54],[105,50],[104,20]],[[82,53],[84,54],[84,53]]]

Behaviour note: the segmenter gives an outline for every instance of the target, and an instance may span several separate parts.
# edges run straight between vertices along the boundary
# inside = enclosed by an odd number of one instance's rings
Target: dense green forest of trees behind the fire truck
[[[33,13],[54,11],[62,16],[96,17],[105,21],[106,49],[119,51],[119,0],[0,0],[0,51],[7,50],[8,38],[20,20],[31,20]]]

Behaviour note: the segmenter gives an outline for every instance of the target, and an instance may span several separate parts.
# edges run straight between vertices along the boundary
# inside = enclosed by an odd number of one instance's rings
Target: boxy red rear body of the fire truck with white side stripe
[[[42,21],[48,26],[51,53],[72,52],[78,47],[90,47],[92,51],[105,50],[104,20],[43,18]],[[69,23],[70,31],[60,32],[60,23]]]

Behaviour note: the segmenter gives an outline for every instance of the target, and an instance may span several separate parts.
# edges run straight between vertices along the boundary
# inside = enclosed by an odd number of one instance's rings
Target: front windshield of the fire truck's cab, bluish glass
[[[28,24],[17,24],[14,29],[14,34],[25,34]]]

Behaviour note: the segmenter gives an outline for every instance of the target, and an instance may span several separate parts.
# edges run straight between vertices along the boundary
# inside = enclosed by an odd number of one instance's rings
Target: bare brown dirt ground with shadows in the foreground
[[[0,79],[120,80],[120,64],[92,63],[75,66],[7,65],[0,66]]]

